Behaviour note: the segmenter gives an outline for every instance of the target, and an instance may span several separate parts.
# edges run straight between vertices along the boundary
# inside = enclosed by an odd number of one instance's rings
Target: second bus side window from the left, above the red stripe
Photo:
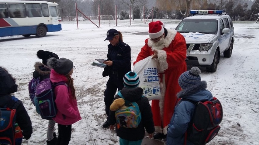
[[[10,18],[24,18],[25,5],[24,4],[8,4],[8,11]]]

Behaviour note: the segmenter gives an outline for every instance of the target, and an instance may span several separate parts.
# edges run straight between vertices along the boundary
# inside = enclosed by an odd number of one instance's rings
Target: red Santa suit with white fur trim
[[[167,30],[167,36],[162,37],[158,42],[146,39],[133,65],[154,54],[153,50],[157,50],[159,65],[157,68],[162,71],[160,79],[163,87],[161,88],[162,98],[152,100],[151,108],[156,132],[167,134],[167,127],[177,103],[176,94],[181,91],[178,78],[187,70],[185,38],[176,30]]]

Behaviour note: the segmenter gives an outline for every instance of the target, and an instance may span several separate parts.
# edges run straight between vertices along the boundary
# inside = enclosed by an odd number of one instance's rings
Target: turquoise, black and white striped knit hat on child
[[[124,75],[123,84],[126,88],[135,88],[140,84],[139,76],[137,73],[129,71]]]

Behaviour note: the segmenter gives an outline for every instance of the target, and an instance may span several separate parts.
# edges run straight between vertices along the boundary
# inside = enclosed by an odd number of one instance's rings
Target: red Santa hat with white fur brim
[[[150,22],[148,27],[149,38],[155,39],[164,34],[164,24],[161,21]]]

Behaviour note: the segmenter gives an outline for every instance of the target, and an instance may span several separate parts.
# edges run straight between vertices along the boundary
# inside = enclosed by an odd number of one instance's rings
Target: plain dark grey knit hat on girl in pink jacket
[[[50,68],[53,68],[54,71],[63,75],[68,74],[73,68],[73,61],[67,58],[50,58],[47,64]]]

